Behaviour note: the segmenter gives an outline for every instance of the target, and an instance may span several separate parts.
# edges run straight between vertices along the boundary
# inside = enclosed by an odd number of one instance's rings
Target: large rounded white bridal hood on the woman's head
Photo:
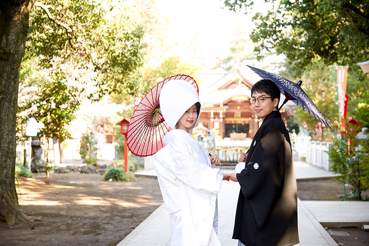
[[[187,81],[170,80],[160,90],[160,111],[164,120],[172,129],[176,128],[176,124],[184,112],[196,102],[200,103],[199,95],[196,89]],[[201,112],[201,106],[199,111]],[[199,122],[200,112],[197,112],[197,120],[190,128],[190,133]]]

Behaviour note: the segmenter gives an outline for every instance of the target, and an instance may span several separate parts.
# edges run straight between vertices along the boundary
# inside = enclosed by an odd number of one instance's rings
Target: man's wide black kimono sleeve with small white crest
[[[258,226],[264,223],[283,188],[284,135],[279,128],[275,124],[265,127],[246,168],[237,174]]]

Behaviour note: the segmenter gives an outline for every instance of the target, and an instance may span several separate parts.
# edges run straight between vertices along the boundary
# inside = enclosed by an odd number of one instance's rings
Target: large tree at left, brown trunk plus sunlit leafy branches
[[[93,100],[109,92],[135,94],[139,86],[134,75],[143,62],[143,29],[129,25],[124,15],[109,21],[106,9],[111,8],[90,2],[0,2],[0,217],[9,224],[28,219],[19,209],[14,184],[19,71],[27,37],[25,59],[38,56],[44,68],[84,69],[96,88],[89,94]]]

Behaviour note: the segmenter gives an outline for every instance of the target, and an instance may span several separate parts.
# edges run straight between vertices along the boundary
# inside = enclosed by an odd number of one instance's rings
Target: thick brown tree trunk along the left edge
[[[18,205],[14,165],[19,70],[30,10],[31,0],[0,2],[0,219],[8,224],[27,218]]]

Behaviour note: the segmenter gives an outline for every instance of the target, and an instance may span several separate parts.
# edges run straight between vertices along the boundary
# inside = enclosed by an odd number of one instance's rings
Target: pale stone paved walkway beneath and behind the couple
[[[222,169],[222,171],[233,172],[233,169]],[[295,162],[295,173],[298,180],[335,176],[332,172],[298,161]],[[154,170],[144,170],[136,175],[156,177]],[[238,183],[224,181],[218,194],[218,237],[223,246],[237,245],[237,241],[232,239],[232,232],[239,191]],[[298,223],[300,246],[338,246],[321,223],[327,223],[326,225],[332,227],[339,223],[346,225],[369,223],[369,203],[298,199]],[[117,246],[170,246],[170,237],[169,215],[164,205],[161,205]]]

